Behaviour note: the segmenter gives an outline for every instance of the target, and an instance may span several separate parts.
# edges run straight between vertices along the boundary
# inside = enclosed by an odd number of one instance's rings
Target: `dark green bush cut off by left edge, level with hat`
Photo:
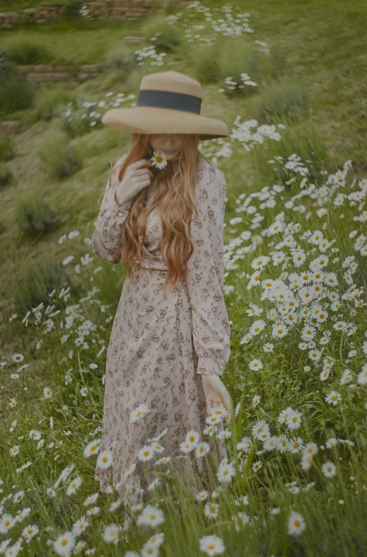
[[[30,108],[35,87],[19,73],[5,49],[0,52],[0,115]]]

